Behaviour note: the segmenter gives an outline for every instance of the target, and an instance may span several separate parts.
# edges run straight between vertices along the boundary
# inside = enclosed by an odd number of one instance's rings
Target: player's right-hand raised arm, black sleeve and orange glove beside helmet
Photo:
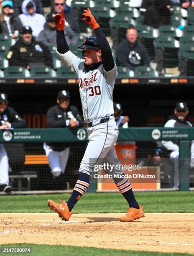
[[[107,41],[107,38],[102,33],[100,29],[100,25],[96,22],[94,16],[92,15],[89,8],[87,10],[84,10],[84,22],[86,22],[89,26],[91,26],[94,30],[94,33],[97,38],[97,42],[100,46],[100,49],[102,51],[102,65],[106,72],[112,70],[115,67],[115,62],[112,57],[112,51],[110,49],[110,45]]]

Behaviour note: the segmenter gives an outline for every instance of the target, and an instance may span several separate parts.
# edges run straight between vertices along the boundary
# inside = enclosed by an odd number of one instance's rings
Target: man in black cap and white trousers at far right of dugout
[[[174,115],[168,118],[164,127],[192,127],[186,120],[189,114],[188,106],[185,102],[177,102]],[[164,148],[171,151],[170,159],[174,162],[174,189],[179,188],[179,141],[162,141]],[[191,161],[190,168],[194,167],[194,141],[191,141]]]

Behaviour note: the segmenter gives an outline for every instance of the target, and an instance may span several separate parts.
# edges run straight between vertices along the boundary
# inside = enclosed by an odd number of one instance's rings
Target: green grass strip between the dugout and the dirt
[[[0,212],[50,212],[47,200],[68,200],[62,195],[16,195],[0,197]],[[194,212],[194,191],[190,192],[137,192],[135,197],[145,212]],[[57,200],[56,200],[57,201]],[[74,213],[126,212],[128,204],[120,193],[91,193],[75,205]]]

